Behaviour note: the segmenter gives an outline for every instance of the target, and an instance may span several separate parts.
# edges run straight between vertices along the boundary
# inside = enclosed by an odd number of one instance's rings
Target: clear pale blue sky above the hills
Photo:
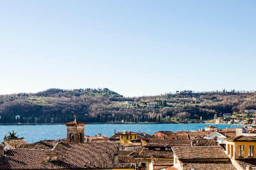
[[[0,1],[0,94],[256,90],[256,1]]]

